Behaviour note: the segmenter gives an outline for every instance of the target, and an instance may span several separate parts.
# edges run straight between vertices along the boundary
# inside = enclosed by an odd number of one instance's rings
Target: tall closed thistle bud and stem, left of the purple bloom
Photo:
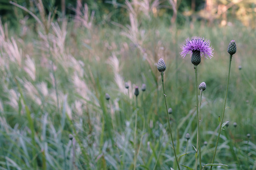
[[[176,163],[177,163],[178,169],[180,170],[180,164],[179,164],[179,161],[177,159],[177,155],[176,155],[176,151],[175,151],[175,146],[174,146],[174,142],[173,142],[173,138],[172,138],[172,129],[171,129],[171,125],[170,125],[170,119],[169,119],[168,108],[167,108],[167,103],[166,103],[166,95],[165,95],[165,91],[164,91],[164,70],[165,69],[166,69],[166,65],[165,65],[164,60],[163,59],[159,59],[158,63],[157,63],[157,70],[161,73],[162,88],[163,88],[163,95],[164,95],[164,103],[165,103],[165,109],[166,109],[166,115],[167,115],[170,135],[171,135],[171,139],[172,139],[172,148],[173,148],[173,152],[174,152],[174,155],[175,155],[175,159],[176,159]]]

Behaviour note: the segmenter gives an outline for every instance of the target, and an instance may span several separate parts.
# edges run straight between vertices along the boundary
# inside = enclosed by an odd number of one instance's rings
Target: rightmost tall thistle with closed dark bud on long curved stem
[[[222,111],[222,115],[221,115],[221,119],[220,119],[220,128],[219,128],[219,133],[218,133],[218,137],[217,137],[217,141],[216,141],[216,145],[215,145],[215,150],[213,153],[213,157],[212,157],[212,164],[216,155],[216,151],[217,151],[217,146],[218,146],[218,142],[219,142],[219,138],[220,138],[220,132],[221,132],[221,126],[222,126],[222,122],[223,122],[223,118],[224,118],[224,113],[225,113],[225,109],[226,109],[226,101],[227,101],[227,96],[228,96],[228,83],[229,83],[229,76],[230,76],[230,68],[231,68],[231,60],[232,60],[232,56],[233,54],[236,53],[236,42],[235,40],[231,40],[229,45],[228,45],[228,53],[229,53],[229,64],[228,64],[228,81],[227,81],[227,89],[226,89],[226,95],[225,95],[225,100],[224,100],[224,107],[223,107],[223,111]],[[210,168],[210,170],[212,170],[212,166]]]

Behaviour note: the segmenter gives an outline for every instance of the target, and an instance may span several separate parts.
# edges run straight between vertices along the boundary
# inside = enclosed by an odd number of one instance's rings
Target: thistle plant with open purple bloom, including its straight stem
[[[183,43],[180,53],[184,58],[188,53],[191,57],[191,62],[194,65],[195,77],[196,77],[196,119],[197,119],[197,145],[196,145],[196,167],[197,167],[197,154],[199,152],[199,163],[200,170],[201,165],[201,147],[200,147],[200,133],[199,133],[199,111],[198,111],[198,92],[197,92],[197,65],[201,62],[201,57],[204,55],[205,58],[212,58],[212,46],[210,46],[210,40],[202,37],[192,37],[191,39],[186,39],[185,44]],[[198,145],[199,144],[199,145]],[[197,152],[198,151],[198,152]]]

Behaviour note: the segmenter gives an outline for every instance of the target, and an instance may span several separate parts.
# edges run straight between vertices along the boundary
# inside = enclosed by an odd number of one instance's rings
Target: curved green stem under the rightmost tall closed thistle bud
[[[214,158],[215,158],[215,155],[216,155],[217,146],[218,146],[218,142],[219,142],[219,138],[220,138],[221,125],[222,125],[223,117],[224,117],[224,113],[225,113],[225,107],[226,107],[226,101],[227,101],[227,95],[228,95],[228,83],[229,83],[231,59],[232,59],[232,55],[229,55],[227,90],[226,90],[226,96],[225,96],[225,101],[224,101],[224,107],[223,107],[223,111],[222,111],[222,116],[221,116],[221,120],[220,120],[220,129],[219,129],[219,133],[218,133],[218,137],[217,137],[217,142],[216,142],[215,150],[214,150],[213,157],[212,157],[212,164],[213,164],[213,161],[214,161]],[[212,166],[211,166],[211,169],[210,169],[210,170],[212,170]]]

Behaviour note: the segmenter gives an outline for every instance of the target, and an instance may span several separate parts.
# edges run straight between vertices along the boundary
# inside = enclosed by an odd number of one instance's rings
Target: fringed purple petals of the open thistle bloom
[[[190,53],[190,57],[192,56],[193,51],[200,51],[200,56],[204,54],[204,57],[212,58],[212,46],[210,46],[210,40],[205,39],[204,37],[192,37],[191,40],[186,39],[186,43],[182,44],[182,52],[181,56],[184,58],[188,53]],[[207,58],[208,59],[208,58]]]

